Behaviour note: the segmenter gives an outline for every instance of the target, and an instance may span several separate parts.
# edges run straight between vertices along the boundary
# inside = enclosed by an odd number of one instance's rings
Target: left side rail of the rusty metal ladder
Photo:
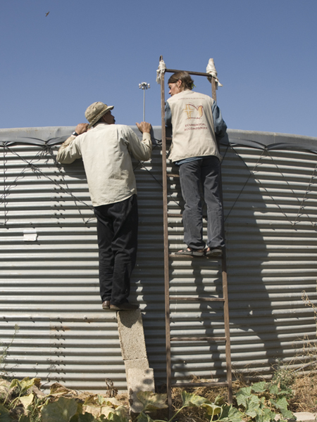
[[[166,127],[165,127],[165,87],[164,74],[161,75],[161,118],[162,118],[162,176],[163,176],[163,232],[164,232],[164,286],[166,324],[166,390],[168,409],[172,409],[171,362],[170,362],[170,280],[168,264],[168,196],[166,175]]]

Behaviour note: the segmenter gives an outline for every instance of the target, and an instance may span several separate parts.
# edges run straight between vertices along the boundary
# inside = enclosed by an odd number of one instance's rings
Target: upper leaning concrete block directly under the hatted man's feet
[[[123,360],[146,359],[141,311],[118,311],[117,319]]]

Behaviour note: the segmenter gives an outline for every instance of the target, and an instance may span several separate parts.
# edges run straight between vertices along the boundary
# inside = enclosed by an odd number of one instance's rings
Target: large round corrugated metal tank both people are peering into
[[[136,133],[137,129],[134,128]],[[82,162],[60,165],[56,151],[73,127],[0,129],[0,340],[5,370],[69,388],[125,390],[116,314],[99,298],[96,220]],[[228,131],[223,199],[228,247],[232,366],[266,376],[272,364],[303,354],[315,339],[317,302],[317,138]],[[165,383],[161,130],[149,162],[135,161],[139,252],[132,300],[141,305],[150,366]],[[172,172],[172,166],[169,165]],[[169,206],[181,213],[176,179]],[[169,219],[170,251],[182,244],[181,217]],[[205,233],[206,235],[206,233]],[[171,260],[170,290],[204,295],[220,289],[220,263]],[[211,311],[211,312],[210,312]],[[173,302],[174,336],[223,335],[221,312]],[[173,343],[173,376],[221,378],[224,344]],[[295,361],[300,357],[296,357]]]

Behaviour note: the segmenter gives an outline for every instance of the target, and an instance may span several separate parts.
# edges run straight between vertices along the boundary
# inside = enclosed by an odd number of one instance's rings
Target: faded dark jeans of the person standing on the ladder
[[[184,224],[184,242],[189,248],[202,249],[203,241],[202,205],[199,194],[201,186],[207,205],[207,246],[209,248],[225,245],[222,225],[223,207],[219,192],[220,161],[215,156],[199,158],[180,165],[180,187],[185,200],[185,210],[182,213]]]

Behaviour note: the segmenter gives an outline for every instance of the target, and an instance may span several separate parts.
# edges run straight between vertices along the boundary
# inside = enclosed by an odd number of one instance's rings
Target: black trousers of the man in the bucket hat
[[[137,260],[137,196],[94,207],[99,246],[101,300],[128,301],[130,276]]]

